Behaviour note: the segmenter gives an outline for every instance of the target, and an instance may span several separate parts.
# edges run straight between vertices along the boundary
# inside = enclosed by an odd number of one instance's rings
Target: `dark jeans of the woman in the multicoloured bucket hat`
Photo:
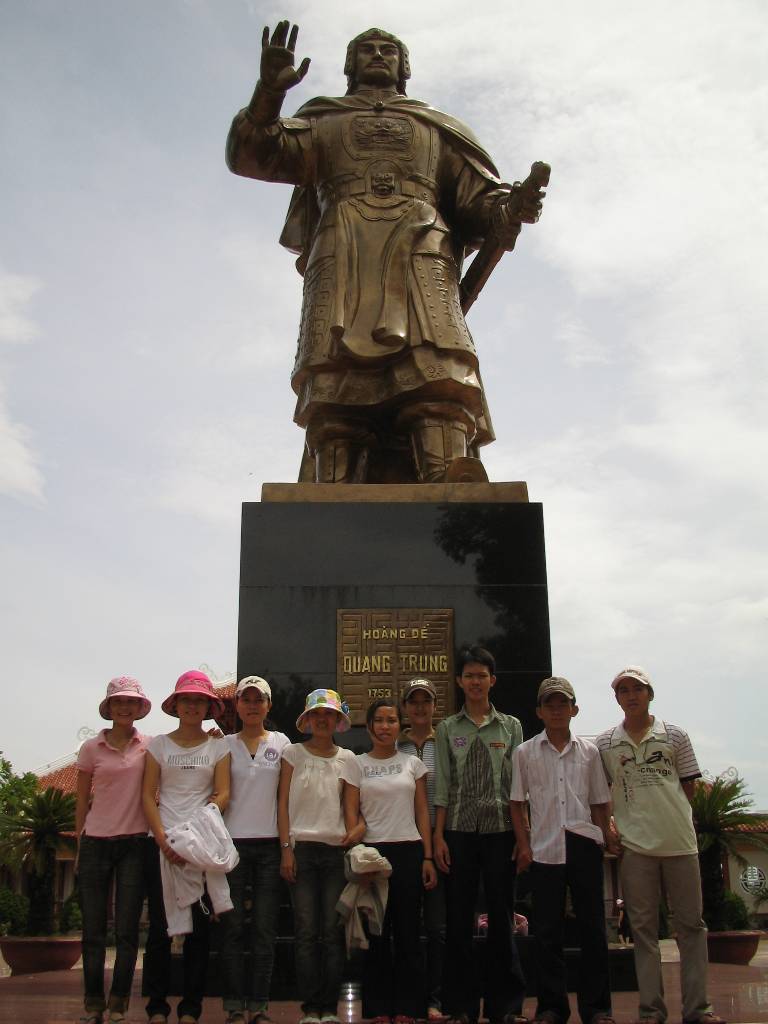
[[[304,1014],[335,1014],[346,964],[344,931],[336,904],[346,885],[344,850],[327,843],[297,843],[294,916],[296,985]]]

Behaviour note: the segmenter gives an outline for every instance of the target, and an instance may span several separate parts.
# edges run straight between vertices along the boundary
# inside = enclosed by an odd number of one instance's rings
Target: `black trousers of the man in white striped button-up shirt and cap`
[[[530,871],[537,942],[537,1017],[549,1011],[565,1024],[570,1016],[563,954],[566,887],[570,890],[581,949],[579,1016],[583,1024],[590,1024],[596,1015],[610,1016],[602,847],[591,839],[566,831],[565,863],[534,861]]]

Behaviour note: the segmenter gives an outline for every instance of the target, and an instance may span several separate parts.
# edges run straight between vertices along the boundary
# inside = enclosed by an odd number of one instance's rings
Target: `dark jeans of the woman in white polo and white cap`
[[[280,912],[280,841],[234,840],[240,863],[227,874],[234,904],[219,923],[221,990],[224,1010],[263,1012],[269,1001],[274,963],[274,939]],[[246,910],[246,888],[251,888],[251,909]],[[245,951],[251,954],[246,981]]]

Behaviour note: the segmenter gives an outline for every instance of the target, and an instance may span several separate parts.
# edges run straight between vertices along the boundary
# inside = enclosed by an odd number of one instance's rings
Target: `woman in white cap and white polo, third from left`
[[[226,736],[231,793],[224,814],[240,863],[228,874],[232,913],[221,919],[221,984],[227,1024],[271,1024],[267,1017],[280,912],[278,780],[283,751],[291,740],[271,732],[264,719],[272,706],[269,683],[246,676],[234,691],[240,732]],[[246,888],[252,906],[246,909]],[[246,925],[247,919],[250,919]],[[250,951],[246,978],[244,952]]]

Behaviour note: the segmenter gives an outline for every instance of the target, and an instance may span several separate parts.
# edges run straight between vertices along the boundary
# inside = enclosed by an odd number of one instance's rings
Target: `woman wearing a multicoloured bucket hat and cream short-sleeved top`
[[[354,755],[334,742],[351,725],[336,690],[312,690],[296,722],[310,733],[283,752],[278,790],[280,873],[294,912],[299,1024],[339,1024],[346,950],[336,904],[345,886],[344,850],[359,842]]]

